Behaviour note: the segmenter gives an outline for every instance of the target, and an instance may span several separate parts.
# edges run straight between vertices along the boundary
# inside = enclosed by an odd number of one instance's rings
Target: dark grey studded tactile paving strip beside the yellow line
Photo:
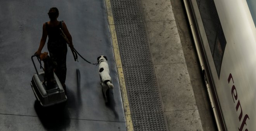
[[[167,131],[139,0],[111,0],[135,131]]]

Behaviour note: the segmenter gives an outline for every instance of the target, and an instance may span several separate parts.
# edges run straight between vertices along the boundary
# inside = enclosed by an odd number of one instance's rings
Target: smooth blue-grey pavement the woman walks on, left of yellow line
[[[38,49],[42,25],[50,7],[59,8],[74,47],[90,62],[108,57],[111,104],[102,96],[98,67],[67,53],[67,103],[42,108],[35,102],[30,81],[35,74],[31,55]],[[118,75],[112,52],[104,1],[0,1],[0,130],[126,130]],[[42,52],[47,51],[47,44]],[[47,51],[48,52],[48,51]],[[39,64],[37,64],[39,68]],[[80,74],[77,77],[77,71]]]

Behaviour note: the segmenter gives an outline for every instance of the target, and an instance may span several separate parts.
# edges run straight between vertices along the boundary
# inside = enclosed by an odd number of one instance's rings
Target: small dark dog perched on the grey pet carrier
[[[50,59],[48,52],[41,53],[40,59],[43,60],[45,71],[43,84],[47,82],[46,90],[52,89],[54,88],[54,84],[56,83],[54,79],[54,63],[52,59]]]

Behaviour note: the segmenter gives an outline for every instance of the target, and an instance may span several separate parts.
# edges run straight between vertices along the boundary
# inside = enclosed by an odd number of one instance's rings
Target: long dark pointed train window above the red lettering
[[[197,5],[204,24],[216,71],[218,77],[220,77],[221,63],[227,42],[221,27],[218,12],[214,0],[197,0]]]

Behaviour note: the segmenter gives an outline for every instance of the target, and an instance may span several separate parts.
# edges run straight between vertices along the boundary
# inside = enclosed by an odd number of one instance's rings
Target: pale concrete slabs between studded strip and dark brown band
[[[145,22],[168,128],[202,131],[171,2],[142,0],[142,6],[153,12],[144,13]]]

